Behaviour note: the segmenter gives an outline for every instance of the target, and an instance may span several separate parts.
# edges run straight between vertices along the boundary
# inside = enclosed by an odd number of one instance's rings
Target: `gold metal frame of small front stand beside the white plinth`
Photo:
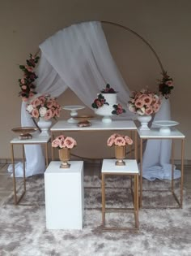
[[[105,176],[118,176],[118,175],[128,175],[134,177],[134,193],[133,193],[133,201],[134,201],[134,208],[107,208],[105,207]],[[120,173],[120,172],[112,172],[112,173],[102,173],[102,182],[101,182],[101,193],[102,193],[102,229],[104,231],[122,231],[122,230],[129,230],[129,231],[138,231],[138,174],[134,173]],[[132,179],[131,179],[132,182]],[[132,187],[131,187],[132,189]],[[132,190],[131,190],[132,191]],[[135,225],[134,228],[120,228],[120,227],[105,227],[105,213],[106,212],[133,212],[134,213],[134,221]]]

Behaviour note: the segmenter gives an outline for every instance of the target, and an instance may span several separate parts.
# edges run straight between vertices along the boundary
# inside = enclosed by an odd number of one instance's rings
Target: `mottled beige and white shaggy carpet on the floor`
[[[0,255],[14,256],[190,256],[191,196],[185,193],[183,209],[139,211],[138,232],[103,232],[100,180],[85,176],[84,227],[81,231],[46,230],[43,176],[28,178],[27,193],[19,206],[12,195],[0,209]],[[108,178],[107,205],[131,206],[129,180]],[[168,182],[149,182],[144,187],[164,189]],[[88,188],[87,188],[88,187]],[[144,205],[177,206],[170,193],[145,193]],[[107,224],[125,225],[131,215],[107,214]],[[129,224],[129,223],[128,223]]]

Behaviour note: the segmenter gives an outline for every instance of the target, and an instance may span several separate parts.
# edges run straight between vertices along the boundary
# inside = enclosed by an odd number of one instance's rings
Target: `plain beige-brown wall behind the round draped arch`
[[[0,158],[10,158],[9,141],[14,137],[11,128],[20,125],[21,99],[18,97],[17,80],[22,73],[18,64],[25,63],[28,54],[36,53],[39,44],[59,29],[82,21],[109,20],[132,28],[149,41],[159,54],[165,70],[173,77],[175,89],[171,98],[172,119],[180,122],[178,128],[186,136],[185,158],[191,159],[191,122],[188,118],[191,93],[190,8],[189,0],[1,1]],[[122,29],[104,25],[104,32],[129,88],[141,89],[148,85],[151,89],[157,89],[157,79],[161,77],[160,68],[151,50],[140,39]],[[69,90],[59,98],[59,102],[62,105],[82,103]],[[91,113],[91,110],[86,109],[87,112]],[[62,118],[67,117],[68,113],[63,111]],[[105,139],[107,137],[104,136]],[[79,137],[79,141],[84,139],[87,140]],[[83,150],[80,146],[80,152],[76,148],[76,153],[101,156],[94,145],[95,141],[88,145],[91,150]],[[107,150],[104,143],[100,145],[102,151]],[[18,150],[16,155],[19,154]],[[176,158],[180,158],[179,146],[176,146]]]

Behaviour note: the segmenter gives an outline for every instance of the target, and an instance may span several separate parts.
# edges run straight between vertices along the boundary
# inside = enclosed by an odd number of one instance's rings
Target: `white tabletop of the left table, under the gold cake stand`
[[[11,144],[40,144],[48,143],[50,136],[39,136],[38,134],[32,135],[32,139],[20,140],[19,137],[15,137],[10,141]]]

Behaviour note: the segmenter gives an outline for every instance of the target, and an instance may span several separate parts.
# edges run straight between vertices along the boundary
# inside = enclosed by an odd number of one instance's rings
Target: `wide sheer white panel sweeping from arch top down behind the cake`
[[[108,83],[119,92],[118,102],[127,110],[129,89],[112,59],[100,22],[65,28],[49,37],[40,50],[85,105],[91,107]],[[134,116],[129,111],[127,115]]]

